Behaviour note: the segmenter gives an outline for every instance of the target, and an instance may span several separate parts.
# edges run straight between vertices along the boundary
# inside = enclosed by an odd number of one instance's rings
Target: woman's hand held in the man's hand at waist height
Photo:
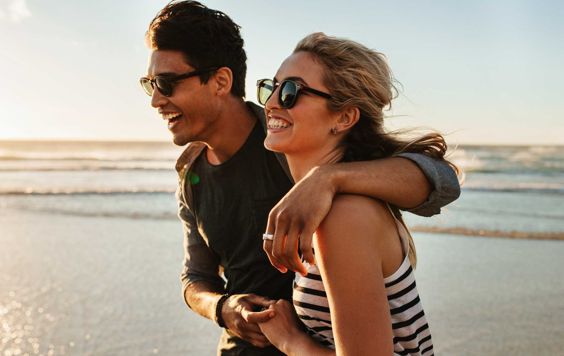
[[[295,343],[298,336],[309,337],[303,331],[303,324],[298,319],[294,306],[289,301],[280,299],[268,309],[276,311],[276,315],[269,321],[258,323],[258,326],[272,345],[286,354],[292,354],[289,344]]]

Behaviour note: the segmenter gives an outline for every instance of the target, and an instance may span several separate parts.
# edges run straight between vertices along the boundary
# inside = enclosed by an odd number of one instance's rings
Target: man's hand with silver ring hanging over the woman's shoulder
[[[315,230],[331,209],[337,189],[325,166],[315,167],[276,204],[268,216],[267,234],[274,241],[265,240],[264,248],[270,263],[280,272],[288,269],[307,274],[298,256],[299,249],[310,265],[315,263],[311,251]]]

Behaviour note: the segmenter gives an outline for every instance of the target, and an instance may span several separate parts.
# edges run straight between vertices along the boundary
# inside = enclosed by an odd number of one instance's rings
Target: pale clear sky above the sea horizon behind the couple
[[[167,1],[0,0],[0,139],[169,141],[138,79]],[[306,34],[384,53],[403,96],[387,127],[460,144],[564,144],[562,2],[227,1],[242,27],[246,100]]]

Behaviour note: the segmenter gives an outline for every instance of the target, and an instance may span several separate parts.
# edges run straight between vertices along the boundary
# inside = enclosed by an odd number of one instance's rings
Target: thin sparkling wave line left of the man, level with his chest
[[[25,188],[2,190],[3,195],[74,195],[74,194],[139,194],[174,193],[176,188]]]

